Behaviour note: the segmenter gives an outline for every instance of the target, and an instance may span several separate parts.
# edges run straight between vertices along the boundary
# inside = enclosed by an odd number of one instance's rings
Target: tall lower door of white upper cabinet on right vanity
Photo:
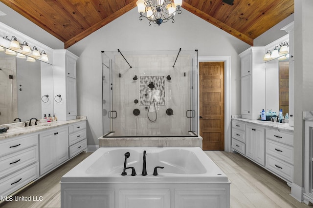
[[[241,78],[241,114],[251,115],[251,76]]]

